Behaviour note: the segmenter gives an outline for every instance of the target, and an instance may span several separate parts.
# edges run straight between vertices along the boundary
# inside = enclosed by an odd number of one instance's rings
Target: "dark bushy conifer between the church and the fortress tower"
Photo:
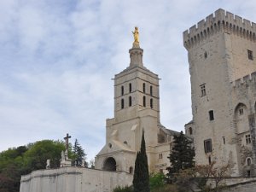
[[[174,175],[180,170],[195,166],[195,149],[191,147],[192,142],[184,136],[183,131],[173,138],[173,148],[168,156],[171,166],[167,167],[169,182],[173,182]]]

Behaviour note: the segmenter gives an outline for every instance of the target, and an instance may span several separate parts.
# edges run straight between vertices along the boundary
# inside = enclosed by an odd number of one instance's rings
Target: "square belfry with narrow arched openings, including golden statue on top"
[[[148,109],[160,122],[159,78],[143,66],[137,27],[133,34],[130,66],[114,78],[114,118],[122,122],[136,118],[139,111]]]

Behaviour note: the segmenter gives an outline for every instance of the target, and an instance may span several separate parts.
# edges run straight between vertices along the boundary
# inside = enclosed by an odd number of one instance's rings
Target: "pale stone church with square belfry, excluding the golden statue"
[[[132,173],[144,130],[149,172],[164,171],[177,132],[160,125],[159,78],[143,66],[143,49],[134,43],[129,53],[130,66],[114,77],[114,118],[107,119],[96,169]]]

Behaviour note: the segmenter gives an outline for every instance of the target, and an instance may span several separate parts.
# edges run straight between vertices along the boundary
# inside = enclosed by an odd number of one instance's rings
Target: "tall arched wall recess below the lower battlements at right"
[[[244,103],[238,103],[235,108],[236,132],[248,131],[247,106]]]

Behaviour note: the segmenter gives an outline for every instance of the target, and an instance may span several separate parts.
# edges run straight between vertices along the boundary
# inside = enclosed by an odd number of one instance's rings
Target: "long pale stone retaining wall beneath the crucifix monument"
[[[20,192],[112,192],[118,185],[131,183],[132,174],[125,172],[62,167],[22,176]]]

